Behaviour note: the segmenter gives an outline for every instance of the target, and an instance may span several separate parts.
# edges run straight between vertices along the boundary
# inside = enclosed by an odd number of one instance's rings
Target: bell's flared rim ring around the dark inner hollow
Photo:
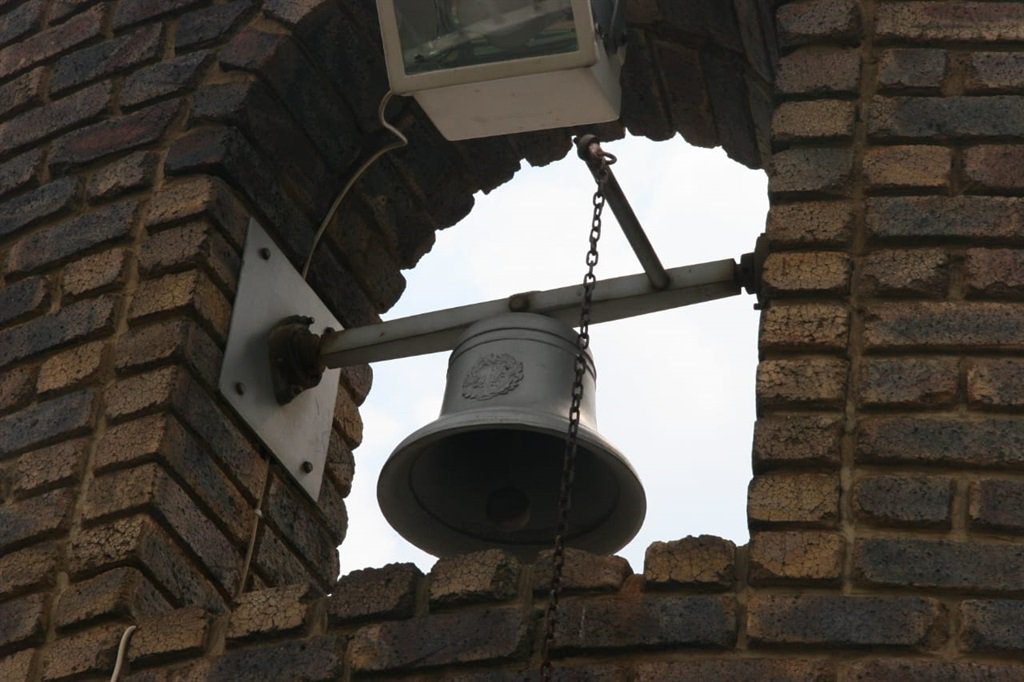
[[[384,482],[408,481],[409,472],[417,457],[442,437],[470,432],[485,424],[501,429],[526,430],[564,437],[568,421],[553,415],[531,412],[517,408],[484,408],[456,415],[442,416],[407,436],[391,452],[377,479],[377,501],[388,523],[408,542],[425,552],[438,557],[454,556],[483,549],[502,549],[520,558],[531,559],[554,544],[504,543],[495,541],[486,547],[470,546],[466,534],[457,531],[442,523],[433,513],[424,509],[416,495],[402,482],[387,489]],[[512,428],[515,427],[515,428]],[[579,442],[585,445],[599,460],[617,469],[616,480],[620,498],[615,508],[608,515],[606,524],[573,536],[566,546],[594,554],[614,554],[628,545],[640,531],[647,512],[647,497],[640,477],[630,461],[600,433],[585,424],[580,425]],[[623,511],[630,511],[625,514]],[[429,531],[424,532],[424,525]],[[610,539],[610,540],[609,540]]]

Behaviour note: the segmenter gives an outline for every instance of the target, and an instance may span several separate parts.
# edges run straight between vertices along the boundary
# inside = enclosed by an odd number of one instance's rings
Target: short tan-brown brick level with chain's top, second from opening
[[[952,150],[924,144],[871,146],[864,153],[863,173],[869,189],[949,186]]]

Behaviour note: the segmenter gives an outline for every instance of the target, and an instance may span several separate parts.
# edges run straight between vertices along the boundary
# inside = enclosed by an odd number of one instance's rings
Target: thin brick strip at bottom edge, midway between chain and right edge
[[[558,668],[555,669],[556,671]],[[700,680],[700,682],[833,682],[836,671],[825,660],[795,658],[705,658],[640,663],[637,682]],[[590,679],[581,677],[580,679]]]

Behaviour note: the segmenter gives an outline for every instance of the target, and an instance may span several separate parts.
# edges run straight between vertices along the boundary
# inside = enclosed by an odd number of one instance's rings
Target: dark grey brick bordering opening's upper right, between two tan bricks
[[[772,157],[768,191],[823,193],[844,196],[849,193],[853,172],[853,153],[843,148],[794,148]]]

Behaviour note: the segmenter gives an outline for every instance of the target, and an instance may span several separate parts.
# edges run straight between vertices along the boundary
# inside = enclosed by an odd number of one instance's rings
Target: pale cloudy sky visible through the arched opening
[[[754,250],[768,210],[767,179],[718,150],[681,138],[627,138],[604,145],[618,157],[620,184],[666,267]],[[570,153],[524,168],[473,212],[440,232],[406,272],[409,286],[387,319],[579,284],[586,265],[594,181]],[[605,210],[598,279],[641,271]],[[602,435],[630,460],[647,493],[643,528],[620,555],[634,571],[654,541],[710,534],[748,541],[758,313],[748,295],[598,325],[591,330]],[[377,476],[391,450],[436,419],[447,353],[378,363],[361,408],[342,574],[436,560],[402,540],[377,506]]]

